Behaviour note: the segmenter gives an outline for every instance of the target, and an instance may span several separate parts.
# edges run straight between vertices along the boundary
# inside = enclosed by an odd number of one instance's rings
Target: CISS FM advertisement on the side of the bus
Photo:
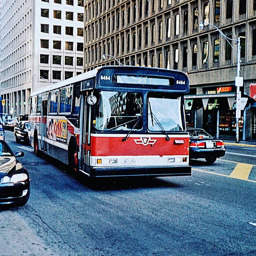
[[[47,138],[67,143],[67,120],[48,119]]]

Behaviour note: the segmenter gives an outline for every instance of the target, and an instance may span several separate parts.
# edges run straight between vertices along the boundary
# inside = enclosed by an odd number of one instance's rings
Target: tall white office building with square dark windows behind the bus
[[[30,92],[83,70],[83,0],[6,0],[1,10],[3,113],[28,114]]]

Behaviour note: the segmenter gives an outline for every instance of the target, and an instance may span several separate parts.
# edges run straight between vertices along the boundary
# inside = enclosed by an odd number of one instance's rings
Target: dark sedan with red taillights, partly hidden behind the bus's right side
[[[222,140],[214,139],[203,129],[189,128],[187,131],[190,135],[189,159],[205,158],[211,164],[225,155],[226,149]]]

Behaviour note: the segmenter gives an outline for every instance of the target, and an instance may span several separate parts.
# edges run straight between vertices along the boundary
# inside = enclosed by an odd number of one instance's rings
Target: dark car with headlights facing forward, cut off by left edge
[[[13,154],[7,143],[0,140],[0,205],[25,205],[29,199],[29,174],[16,159],[23,156],[22,151]]]

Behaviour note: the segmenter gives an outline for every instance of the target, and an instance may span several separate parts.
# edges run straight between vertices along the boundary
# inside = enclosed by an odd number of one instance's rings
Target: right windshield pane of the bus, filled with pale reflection
[[[148,128],[150,131],[161,131],[159,122],[165,131],[183,131],[181,97],[149,98],[148,99]]]

